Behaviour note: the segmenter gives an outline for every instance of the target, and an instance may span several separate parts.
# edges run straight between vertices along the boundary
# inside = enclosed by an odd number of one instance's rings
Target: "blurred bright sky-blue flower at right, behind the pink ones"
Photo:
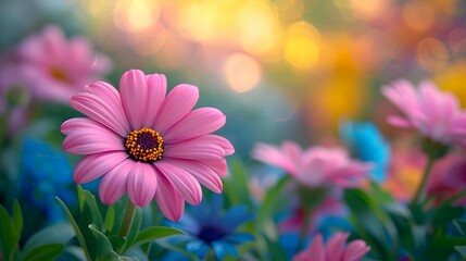
[[[361,160],[374,163],[375,169],[370,177],[375,182],[383,182],[387,164],[390,161],[390,146],[378,128],[369,122],[344,122],[340,136]]]

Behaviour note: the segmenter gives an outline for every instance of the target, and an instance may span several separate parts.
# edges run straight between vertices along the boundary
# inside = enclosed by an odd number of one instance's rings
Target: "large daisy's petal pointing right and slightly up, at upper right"
[[[225,125],[225,115],[214,108],[200,108],[188,113],[163,136],[167,142],[179,142],[213,133]]]

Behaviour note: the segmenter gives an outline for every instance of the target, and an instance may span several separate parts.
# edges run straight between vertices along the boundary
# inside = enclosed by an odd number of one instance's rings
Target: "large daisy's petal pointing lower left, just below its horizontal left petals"
[[[77,184],[92,182],[106,174],[126,158],[128,158],[128,154],[125,151],[102,152],[86,156],[76,164],[73,178]]]

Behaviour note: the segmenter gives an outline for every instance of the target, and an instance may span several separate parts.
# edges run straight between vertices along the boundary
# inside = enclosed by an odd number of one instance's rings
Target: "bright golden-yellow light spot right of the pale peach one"
[[[297,69],[308,70],[319,61],[320,34],[307,22],[297,22],[287,29],[285,60]]]

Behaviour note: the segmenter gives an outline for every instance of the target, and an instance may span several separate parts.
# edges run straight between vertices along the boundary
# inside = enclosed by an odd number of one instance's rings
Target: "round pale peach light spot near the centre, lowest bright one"
[[[224,63],[223,72],[229,87],[240,94],[256,87],[262,78],[261,64],[244,53],[229,55]]]

